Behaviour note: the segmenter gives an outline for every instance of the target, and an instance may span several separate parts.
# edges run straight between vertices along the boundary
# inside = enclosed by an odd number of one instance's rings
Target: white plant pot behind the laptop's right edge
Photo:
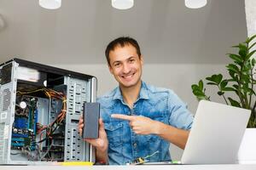
[[[237,155],[239,164],[256,163],[256,128],[247,128]]]

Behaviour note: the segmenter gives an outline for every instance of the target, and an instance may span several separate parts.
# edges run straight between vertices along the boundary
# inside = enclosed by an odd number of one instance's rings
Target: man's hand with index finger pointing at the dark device
[[[137,134],[153,134],[155,133],[156,121],[145,116],[126,116],[122,114],[113,114],[112,118],[130,121],[131,129]]]

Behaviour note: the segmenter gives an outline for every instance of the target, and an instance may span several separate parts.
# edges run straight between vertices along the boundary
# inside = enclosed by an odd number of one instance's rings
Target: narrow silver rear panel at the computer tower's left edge
[[[12,125],[15,117],[15,97],[18,64],[13,61],[2,65],[0,84],[0,164],[14,163],[10,159]]]

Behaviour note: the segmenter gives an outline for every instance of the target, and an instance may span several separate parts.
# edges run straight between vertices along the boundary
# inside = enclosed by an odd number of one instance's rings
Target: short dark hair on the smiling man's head
[[[114,39],[112,42],[108,43],[108,46],[105,50],[106,59],[108,61],[108,65],[110,65],[110,59],[109,59],[109,53],[110,51],[114,50],[117,46],[121,46],[122,48],[125,47],[125,45],[132,45],[134,48],[136,48],[137,54],[139,56],[139,59],[141,59],[141,49],[138,45],[137,41],[131,37],[118,37]]]

